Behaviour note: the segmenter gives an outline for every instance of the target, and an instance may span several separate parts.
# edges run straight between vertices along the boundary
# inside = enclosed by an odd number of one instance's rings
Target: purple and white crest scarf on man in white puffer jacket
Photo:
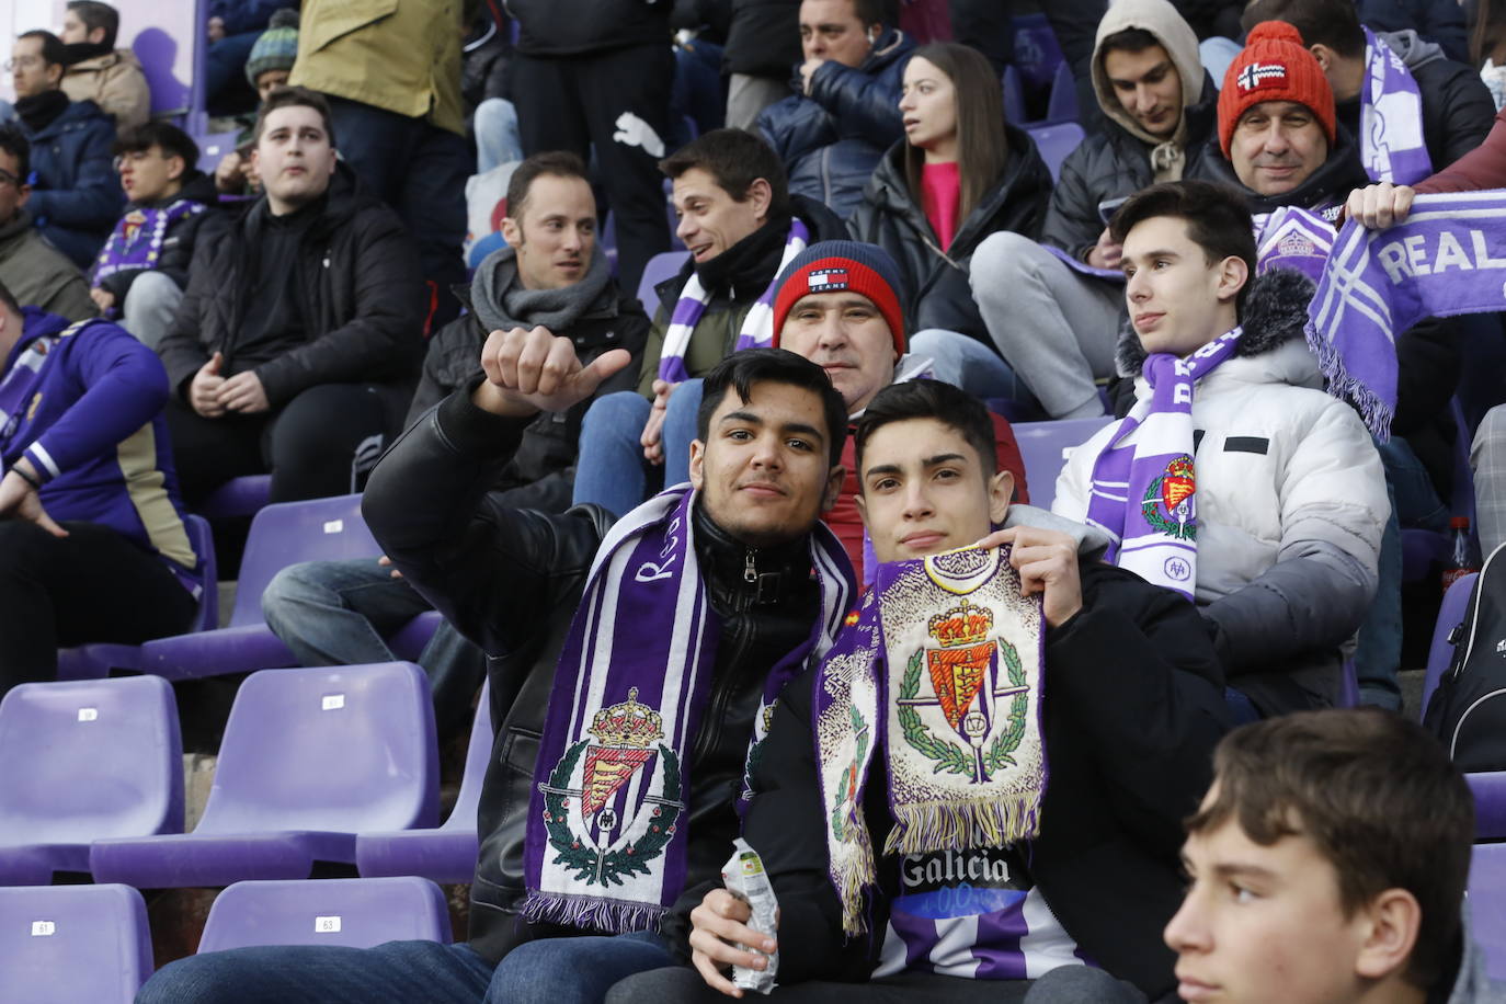
[[[1119,420],[1093,461],[1086,522],[1108,534],[1104,558],[1187,599],[1197,589],[1193,385],[1233,355],[1242,333],[1233,328],[1185,360],[1148,357],[1151,396]]]

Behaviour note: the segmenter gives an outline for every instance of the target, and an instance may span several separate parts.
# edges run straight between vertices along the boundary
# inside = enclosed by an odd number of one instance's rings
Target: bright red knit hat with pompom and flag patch
[[[1261,21],[1250,29],[1244,50],[1229,63],[1218,92],[1218,146],[1229,157],[1229,141],[1239,116],[1262,101],[1306,105],[1334,141],[1333,87],[1318,59],[1303,45],[1301,32],[1286,21]]]

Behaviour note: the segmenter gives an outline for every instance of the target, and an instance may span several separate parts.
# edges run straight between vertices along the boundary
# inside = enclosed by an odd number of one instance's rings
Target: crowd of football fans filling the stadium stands
[[[1050,5],[1065,158],[1000,5],[471,6],[212,0],[208,164],[108,3],[12,48],[0,697],[190,632],[256,476],[386,551],[271,580],[298,665],[438,611],[441,739],[489,683],[465,942],[140,1001],[1506,1001],[1399,715],[1404,533],[1506,542],[1506,303],[1316,321],[1506,188],[1488,0]]]

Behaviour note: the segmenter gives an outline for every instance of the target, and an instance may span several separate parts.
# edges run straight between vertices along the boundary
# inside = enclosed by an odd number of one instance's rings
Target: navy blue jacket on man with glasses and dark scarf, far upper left
[[[75,101],[32,141],[36,176],[26,208],[59,251],[89,268],[120,218],[125,193],[114,173],[114,120],[93,101]]]

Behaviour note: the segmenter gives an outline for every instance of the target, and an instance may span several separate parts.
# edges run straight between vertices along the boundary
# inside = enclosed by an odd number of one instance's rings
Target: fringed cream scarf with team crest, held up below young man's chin
[[[893,826],[883,853],[1006,847],[1041,828],[1044,622],[1009,548],[881,564],[821,664],[812,721],[842,930],[866,930],[876,882],[863,816],[884,745]]]

